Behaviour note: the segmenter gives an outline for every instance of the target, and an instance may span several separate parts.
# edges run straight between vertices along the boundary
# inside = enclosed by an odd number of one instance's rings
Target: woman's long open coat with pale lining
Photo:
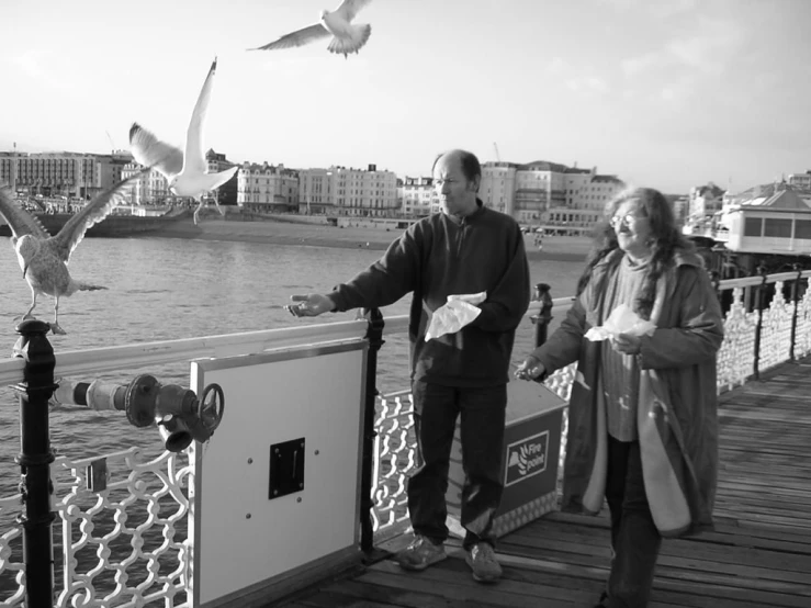
[[[547,373],[577,361],[568,408],[563,509],[596,514],[602,506],[608,435],[600,383],[606,341],[584,335],[611,313],[604,309],[607,281],[623,252],[594,268],[592,280],[561,327],[532,353]],[[645,492],[662,536],[712,527],[718,476],[716,353],[723,341],[718,297],[701,259],[679,254],[656,285],[651,313],[656,325],[641,338],[638,430]]]

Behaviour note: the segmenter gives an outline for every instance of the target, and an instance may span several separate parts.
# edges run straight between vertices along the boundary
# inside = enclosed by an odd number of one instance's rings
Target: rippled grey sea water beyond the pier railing
[[[9,240],[0,237],[0,357],[11,356],[18,339],[14,317],[31,302]],[[108,290],[64,299],[59,322],[67,336],[49,334],[48,338],[58,357],[66,350],[352,319],[353,312],[300,319],[283,306],[293,293],[330,291],[380,255],[365,249],[251,243],[88,238],[71,258],[71,273]],[[553,297],[562,297],[574,292],[582,268],[582,262],[532,261],[531,280],[550,283]],[[410,295],[385,308],[384,316],[406,314],[409,302]],[[537,306],[532,305],[533,312]],[[41,297],[35,314],[52,320],[53,300]],[[529,351],[531,340],[532,325],[525,319],[516,341],[516,361]],[[408,385],[405,345],[404,338],[394,337],[380,352],[378,386],[383,392]],[[164,384],[189,385],[188,362],[95,378],[126,384],[140,373],[150,373]],[[86,458],[140,446],[157,455],[161,449],[154,427],[132,427],[123,412],[54,406],[50,414],[52,446],[58,454]],[[13,460],[20,450],[19,425],[16,395],[0,387],[0,497],[15,493],[20,481]]]

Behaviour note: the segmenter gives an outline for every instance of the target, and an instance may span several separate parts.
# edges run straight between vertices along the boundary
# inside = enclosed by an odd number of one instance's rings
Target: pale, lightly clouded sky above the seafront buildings
[[[811,0],[372,0],[348,59],[247,50],[337,0],[7,4],[0,150],[105,154],[134,121],[182,147],[216,56],[204,143],[235,162],[427,176],[465,148],[666,193],[811,170]]]

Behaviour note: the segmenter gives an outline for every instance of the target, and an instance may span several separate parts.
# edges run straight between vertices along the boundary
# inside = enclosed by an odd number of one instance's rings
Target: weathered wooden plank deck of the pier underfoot
[[[651,607],[811,607],[811,359],[720,399],[717,530],[666,540]],[[590,607],[607,577],[607,517],[550,514],[499,541],[504,578],[472,581],[457,543],[406,573],[387,559],[285,608]]]

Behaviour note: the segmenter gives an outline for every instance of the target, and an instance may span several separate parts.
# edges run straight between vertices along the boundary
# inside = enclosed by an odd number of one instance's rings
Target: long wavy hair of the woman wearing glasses
[[[671,203],[664,194],[652,188],[628,188],[617,194],[606,205],[605,221],[595,228],[595,240],[586,259],[586,269],[577,281],[579,295],[592,280],[594,268],[611,251],[619,248],[617,233],[611,226],[611,217],[626,201],[635,199],[642,215],[647,217],[651,226],[651,261],[650,269],[635,302],[635,312],[644,319],[651,318],[653,302],[656,297],[656,281],[673,266],[676,250],[691,251],[695,247],[676,225],[676,216]]]

